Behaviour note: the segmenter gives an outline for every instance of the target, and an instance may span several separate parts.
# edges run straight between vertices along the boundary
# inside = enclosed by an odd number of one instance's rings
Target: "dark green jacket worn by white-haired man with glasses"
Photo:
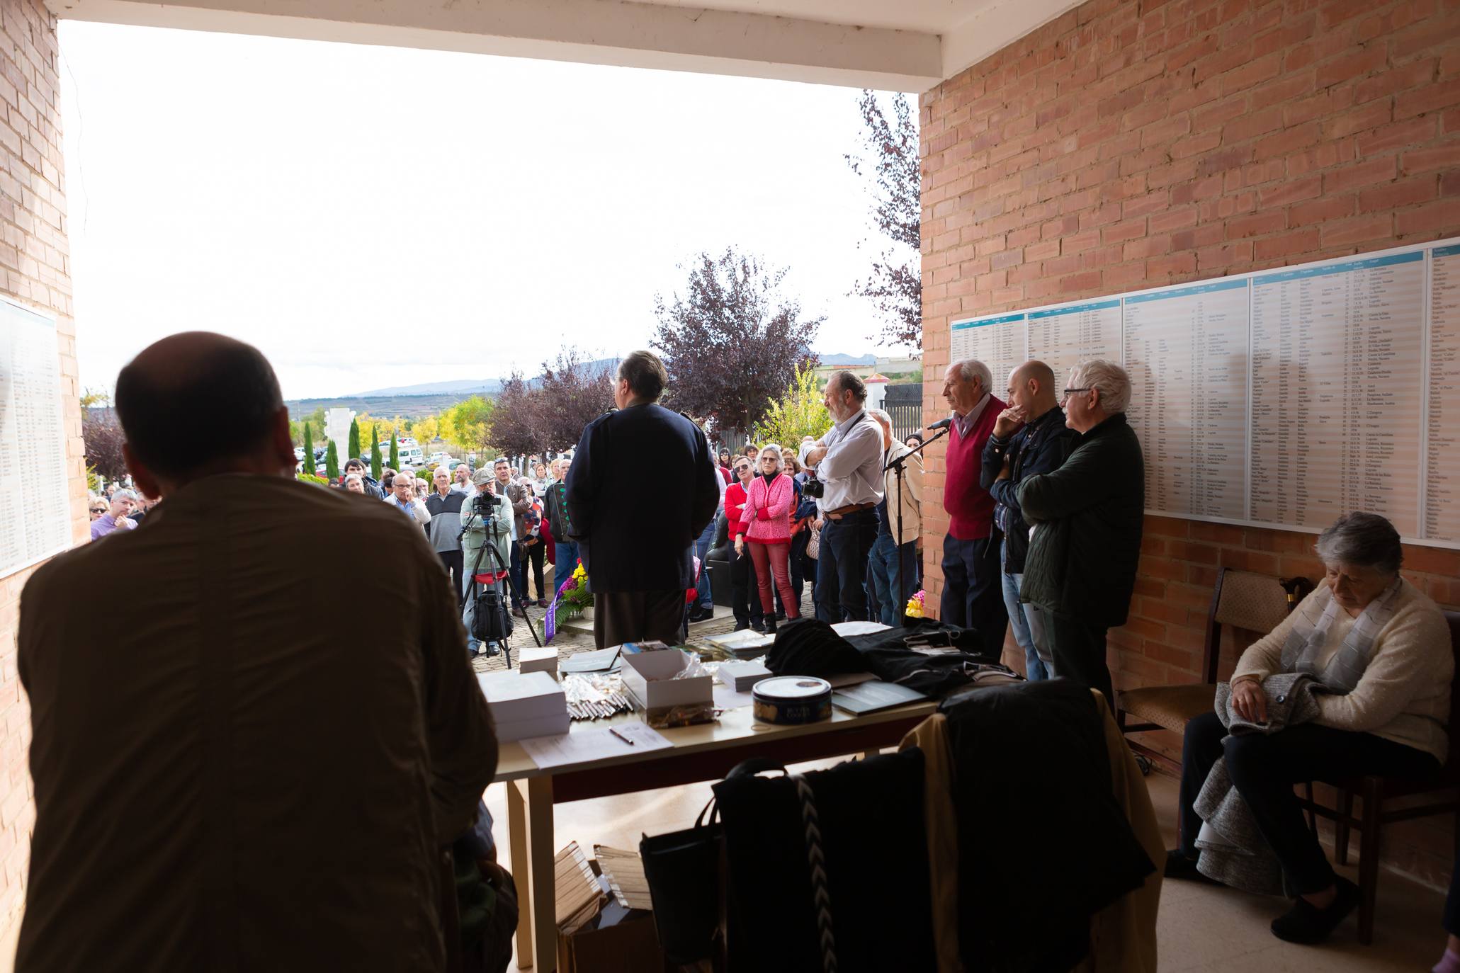
[[[1080,436],[1058,470],[1019,484],[1019,509],[1035,525],[1021,600],[1089,626],[1124,624],[1145,508],[1140,441],[1117,413]]]

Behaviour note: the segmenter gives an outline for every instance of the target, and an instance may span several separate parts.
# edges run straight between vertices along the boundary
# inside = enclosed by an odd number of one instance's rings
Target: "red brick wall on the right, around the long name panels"
[[[927,411],[958,317],[1460,235],[1457,38],[1442,0],[1091,0],[923,95]],[[942,481],[939,449],[934,509]],[[924,524],[934,595],[948,524]],[[1317,578],[1311,544],[1148,518],[1115,686],[1193,680],[1216,569]],[[1406,569],[1460,604],[1460,551]],[[1448,821],[1386,840],[1448,881]]]

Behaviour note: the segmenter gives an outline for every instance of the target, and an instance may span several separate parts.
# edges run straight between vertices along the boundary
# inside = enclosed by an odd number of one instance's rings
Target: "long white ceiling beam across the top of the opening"
[[[1035,0],[1044,3],[1047,0]],[[47,0],[61,19],[923,92],[937,35],[620,0]]]

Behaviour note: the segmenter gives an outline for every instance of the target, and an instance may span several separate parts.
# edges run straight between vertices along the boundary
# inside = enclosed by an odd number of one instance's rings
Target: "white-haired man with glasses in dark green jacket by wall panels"
[[[1126,422],[1130,376],[1114,362],[1085,362],[1063,400],[1080,441],[1058,470],[1019,484],[1034,525],[1019,594],[1040,613],[1054,674],[1098,689],[1114,708],[1105,632],[1126,623],[1146,506],[1140,441]]]

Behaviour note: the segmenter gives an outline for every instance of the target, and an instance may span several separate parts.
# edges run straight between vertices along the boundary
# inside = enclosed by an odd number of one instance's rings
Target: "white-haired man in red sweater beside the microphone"
[[[978,632],[984,655],[1003,652],[1009,613],[999,576],[999,543],[993,540],[994,499],[978,486],[984,443],[1004,403],[994,398],[993,375],[975,359],[953,362],[943,378],[943,397],[953,410],[948,435],[943,508],[943,598],[939,616]]]

